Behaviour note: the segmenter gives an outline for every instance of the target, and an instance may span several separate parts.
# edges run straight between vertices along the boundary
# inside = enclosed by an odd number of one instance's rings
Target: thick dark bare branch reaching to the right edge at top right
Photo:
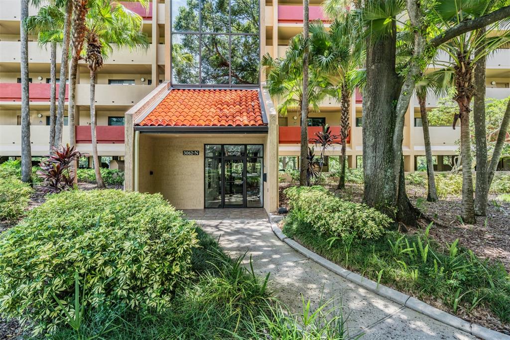
[[[446,30],[442,34],[432,38],[429,43],[432,47],[438,47],[456,36],[486,27],[491,25],[491,23],[507,19],[508,17],[510,17],[510,6],[505,6],[487,15],[480,16],[479,18],[463,21],[451,29]]]

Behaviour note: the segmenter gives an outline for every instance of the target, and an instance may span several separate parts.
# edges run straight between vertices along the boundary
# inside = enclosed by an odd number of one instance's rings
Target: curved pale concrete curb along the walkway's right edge
[[[447,313],[436,307],[432,307],[431,305],[426,304],[423,301],[420,301],[409,295],[398,292],[398,290],[395,290],[393,288],[387,287],[382,284],[377,284],[377,282],[375,281],[372,281],[359,274],[346,270],[345,268],[342,268],[338,264],[333,263],[322,256],[319,256],[318,254],[312,252],[311,250],[301,246],[300,244],[298,244],[298,242],[294,241],[293,239],[287,237],[273,221],[271,215],[269,217],[269,222],[271,224],[271,229],[273,233],[276,235],[276,237],[278,237],[281,241],[285,242],[289,247],[293,248],[298,253],[322,265],[327,270],[340,275],[346,280],[358,284],[370,290],[371,292],[382,297],[385,297],[393,302],[396,302],[407,308],[425,314],[427,315],[427,317],[438,320],[444,324],[460,329],[484,340],[510,340],[510,336],[508,335],[493,331],[492,329],[486,327],[482,327],[478,324],[470,323],[461,318],[457,318],[455,317],[455,315]]]

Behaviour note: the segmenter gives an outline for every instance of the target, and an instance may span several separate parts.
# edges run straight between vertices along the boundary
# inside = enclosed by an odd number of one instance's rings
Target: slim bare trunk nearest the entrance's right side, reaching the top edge
[[[299,185],[307,185],[308,154],[308,36],[309,36],[309,1],[303,0],[303,98],[301,101],[301,163],[299,168]]]

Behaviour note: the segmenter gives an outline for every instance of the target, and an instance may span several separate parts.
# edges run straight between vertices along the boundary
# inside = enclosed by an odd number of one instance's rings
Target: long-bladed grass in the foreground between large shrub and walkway
[[[312,311],[303,300],[292,314],[271,297],[268,277],[259,278],[231,259],[217,240],[196,229],[200,248],[192,256],[195,277],[182,283],[172,306],[126,312],[123,306],[98,307],[86,313],[79,331],[60,327],[52,339],[344,339],[341,308],[331,301]]]

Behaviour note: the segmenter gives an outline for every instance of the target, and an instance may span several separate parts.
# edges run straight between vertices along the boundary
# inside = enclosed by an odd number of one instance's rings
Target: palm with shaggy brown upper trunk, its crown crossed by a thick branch
[[[444,31],[460,24],[462,21],[474,19],[493,11],[493,1],[490,0],[439,0],[431,8],[430,19],[433,27]],[[440,50],[446,52],[449,60],[439,61],[445,68],[453,72],[455,95],[453,100],[458,104],[458,114],[454,117],[461,120],[461,158],[462,158],[462,207],[461,217],[465,223],[476,223],[473,199],[473,176],[470,142],[470,104],[475,95],[474,68],[480,58],[510,41],[510,32],[498,31],[498,23],[489,25],[484,32],[464,33],[444,44]]]

